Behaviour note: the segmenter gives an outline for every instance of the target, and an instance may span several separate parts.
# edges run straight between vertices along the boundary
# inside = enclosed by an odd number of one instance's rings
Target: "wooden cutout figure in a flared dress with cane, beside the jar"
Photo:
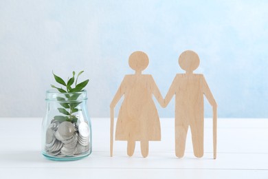
[[[114,107],[124,95],[118,120],[115,140],[127,141],[127,154],[133,156],[135,141],[140,141],[142,156],[148,156],[149,140],[161,140],[160,121],[153,101],[164,105],[153,76],[142,74],[148,66],[148,56],[144,52],[133,52],[129,56],[129,66],[135,74],[124,76],[124,79],[111,102],[111,156],[113,156],[113,116]]]

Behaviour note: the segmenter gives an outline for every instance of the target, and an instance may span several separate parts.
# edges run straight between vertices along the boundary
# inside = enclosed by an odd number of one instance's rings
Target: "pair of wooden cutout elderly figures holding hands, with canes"
[[[144,52],[133,52],[129,56],[129,66],[135,74],[124,79],[111,102],[110,152],[113,156],[113,118],[115,105],[124,95],[115,129],[115,140],[127,141],[127,154],[132,156],[135,141],[140,141],[142,156],[148,156],[148,143],[161,140],[160,121],[153,101],[153,95],[162,107],[166,107],[175,95],[175,153],[184,155],[186,135],[190,126],[194,156],[203,156],[203,94],[213,108],[213,144],[216,158],[216,101],[205,82],[203,74],[194,74],[199,66],[199,56],[187,50],[179,56],[179,66],[186,74],[177,74],[164,99],[150,74],[142,74],[148,66],[148,56]]]

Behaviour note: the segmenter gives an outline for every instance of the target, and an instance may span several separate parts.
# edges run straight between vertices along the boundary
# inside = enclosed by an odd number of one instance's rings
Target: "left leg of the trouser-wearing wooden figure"
[[[186,146],[186,136],[188,131],[188,123],[183,118],[175,118],[175,153],[176,156],[182,158],[184,156]]]

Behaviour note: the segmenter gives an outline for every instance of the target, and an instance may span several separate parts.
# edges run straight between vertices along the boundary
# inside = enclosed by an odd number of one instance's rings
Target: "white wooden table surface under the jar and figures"
[[[212,120],[205,119],[205,154],[195,158],[190,133],[184,158],[175,157],[174,119],[161,118],[161,141],[142,158],[115,141],[109,156],[109,118],[91,118],[93,152],[56,162],[41,155],[42,118],[0,118],[0,178],[268,178],[268,119],[220,118],[218,158],[212,154]],[[190,131],[189,131],[190,132]]]

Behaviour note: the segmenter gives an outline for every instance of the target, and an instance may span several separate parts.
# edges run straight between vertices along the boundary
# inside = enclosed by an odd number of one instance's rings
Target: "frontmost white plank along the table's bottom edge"
[[[263,170],[224,170],[224,169],[52,169],[52,168],[24,168],[0,169],[1,178],[258,178],[267,179],[268,171]]]

